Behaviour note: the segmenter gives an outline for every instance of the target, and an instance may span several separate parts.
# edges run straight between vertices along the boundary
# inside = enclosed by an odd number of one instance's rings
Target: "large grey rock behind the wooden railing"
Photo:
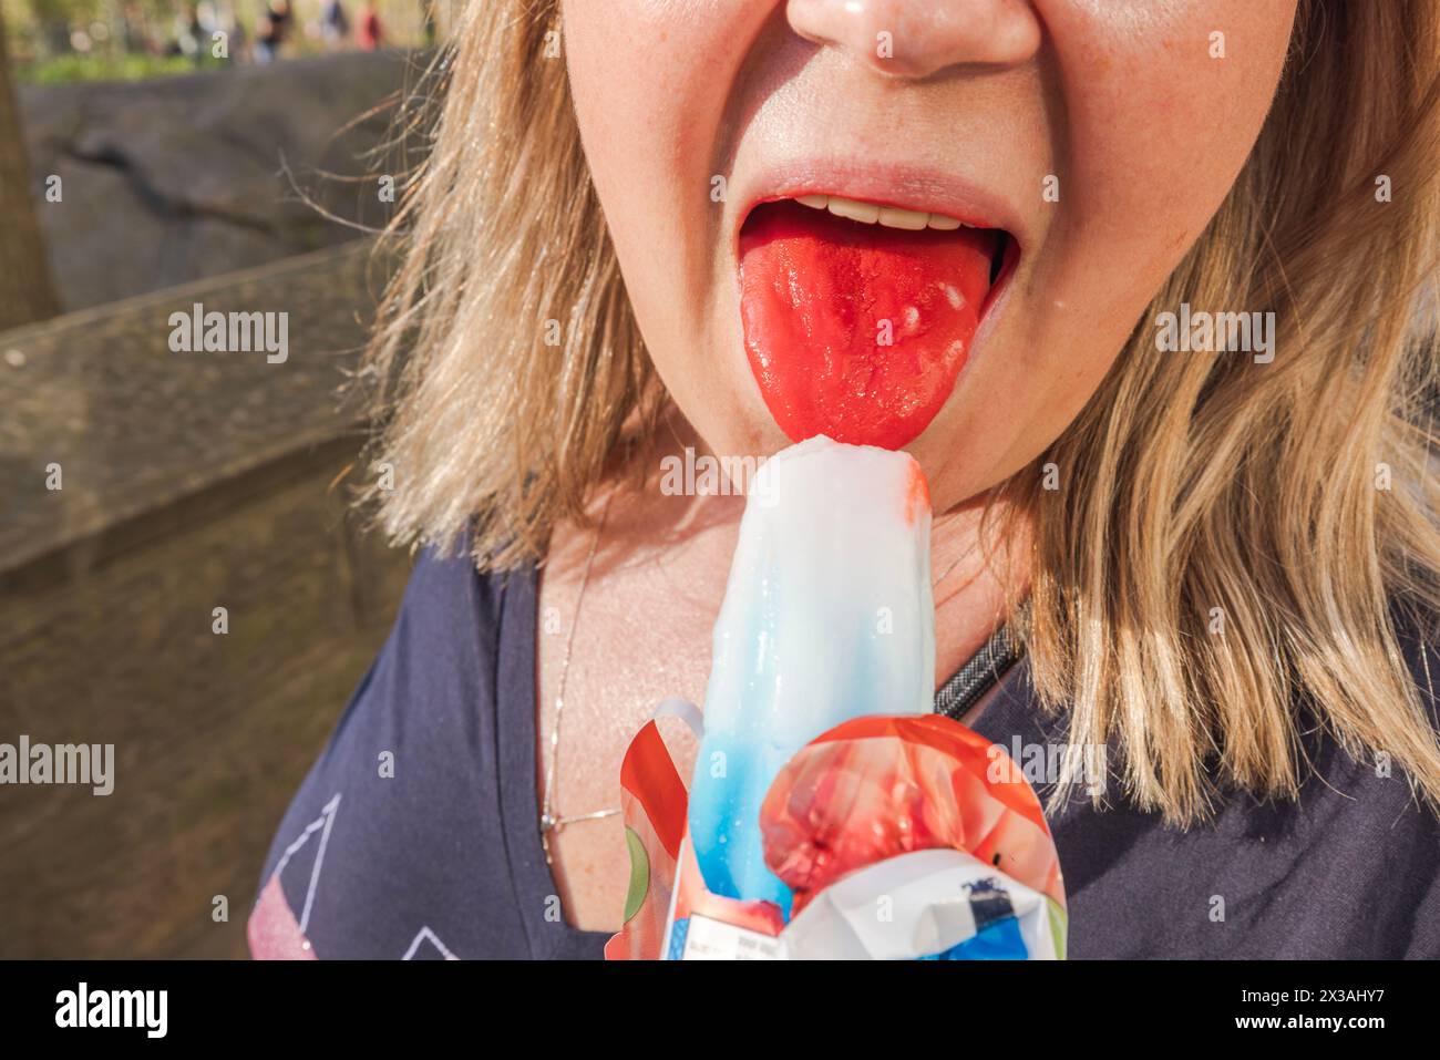
[[[392,171],[367,156],[390,137],[396,108],[387,104],[413,86],[423,62],[351,52],[141,82],[22,86],[32,194],[63,308],[359,235],[323,212],[383,225],[395,205],[356,177]],[[60,202],[45,196],[52,174]]]

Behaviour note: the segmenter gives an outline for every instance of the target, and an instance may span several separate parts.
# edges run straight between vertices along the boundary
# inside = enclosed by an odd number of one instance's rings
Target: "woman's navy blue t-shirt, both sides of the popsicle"
[[[252,953],[602,956],[606,932],[554,917],[540,848],[536,589],[533,567],[420,557],[271,845]],[[1410,661],[1434,711],[1431,655],[1414,644]],[[1021,753],[1063,727],[1024,661],[975,724]],[[1113,805],[1113,785],[1104,811],[1076,791],[1050,821],[1070,958],[1440,958],[1440,822],[1398,769],[1308,739],[1318,775],[1297,802],[1237,795],[1188,831]]]

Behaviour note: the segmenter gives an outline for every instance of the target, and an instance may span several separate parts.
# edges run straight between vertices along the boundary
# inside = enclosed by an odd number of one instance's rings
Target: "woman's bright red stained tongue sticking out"
[[[744,349],[791,441],[899,449],[924,431],[969,356],[996,239],[757,206],[740,230]]]

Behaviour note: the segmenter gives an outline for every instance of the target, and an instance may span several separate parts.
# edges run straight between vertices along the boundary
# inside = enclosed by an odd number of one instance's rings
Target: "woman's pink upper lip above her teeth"
[[[942,213],[976,228],[1004,229],[1020,248],[1027,245],[1020,210],[1004,194],[933,169],[809,158],[769,166],[746,174],[742,183],[742,187],[732,189],[737,193],[736,202],[743,205],[730,232],[734,251],[739,251],[740,226],[756,206],[802,194],[835,194]]]

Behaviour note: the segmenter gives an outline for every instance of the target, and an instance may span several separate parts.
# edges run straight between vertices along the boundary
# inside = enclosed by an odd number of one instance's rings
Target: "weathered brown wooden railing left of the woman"
[[[0,958],[245,953],[409,570],[346,485],[376,269],[348,243],[0,333],[0,743],[115,756],[109,795],[0,785]],[[171,351],[196,302],[288,313],[285,361]]]

